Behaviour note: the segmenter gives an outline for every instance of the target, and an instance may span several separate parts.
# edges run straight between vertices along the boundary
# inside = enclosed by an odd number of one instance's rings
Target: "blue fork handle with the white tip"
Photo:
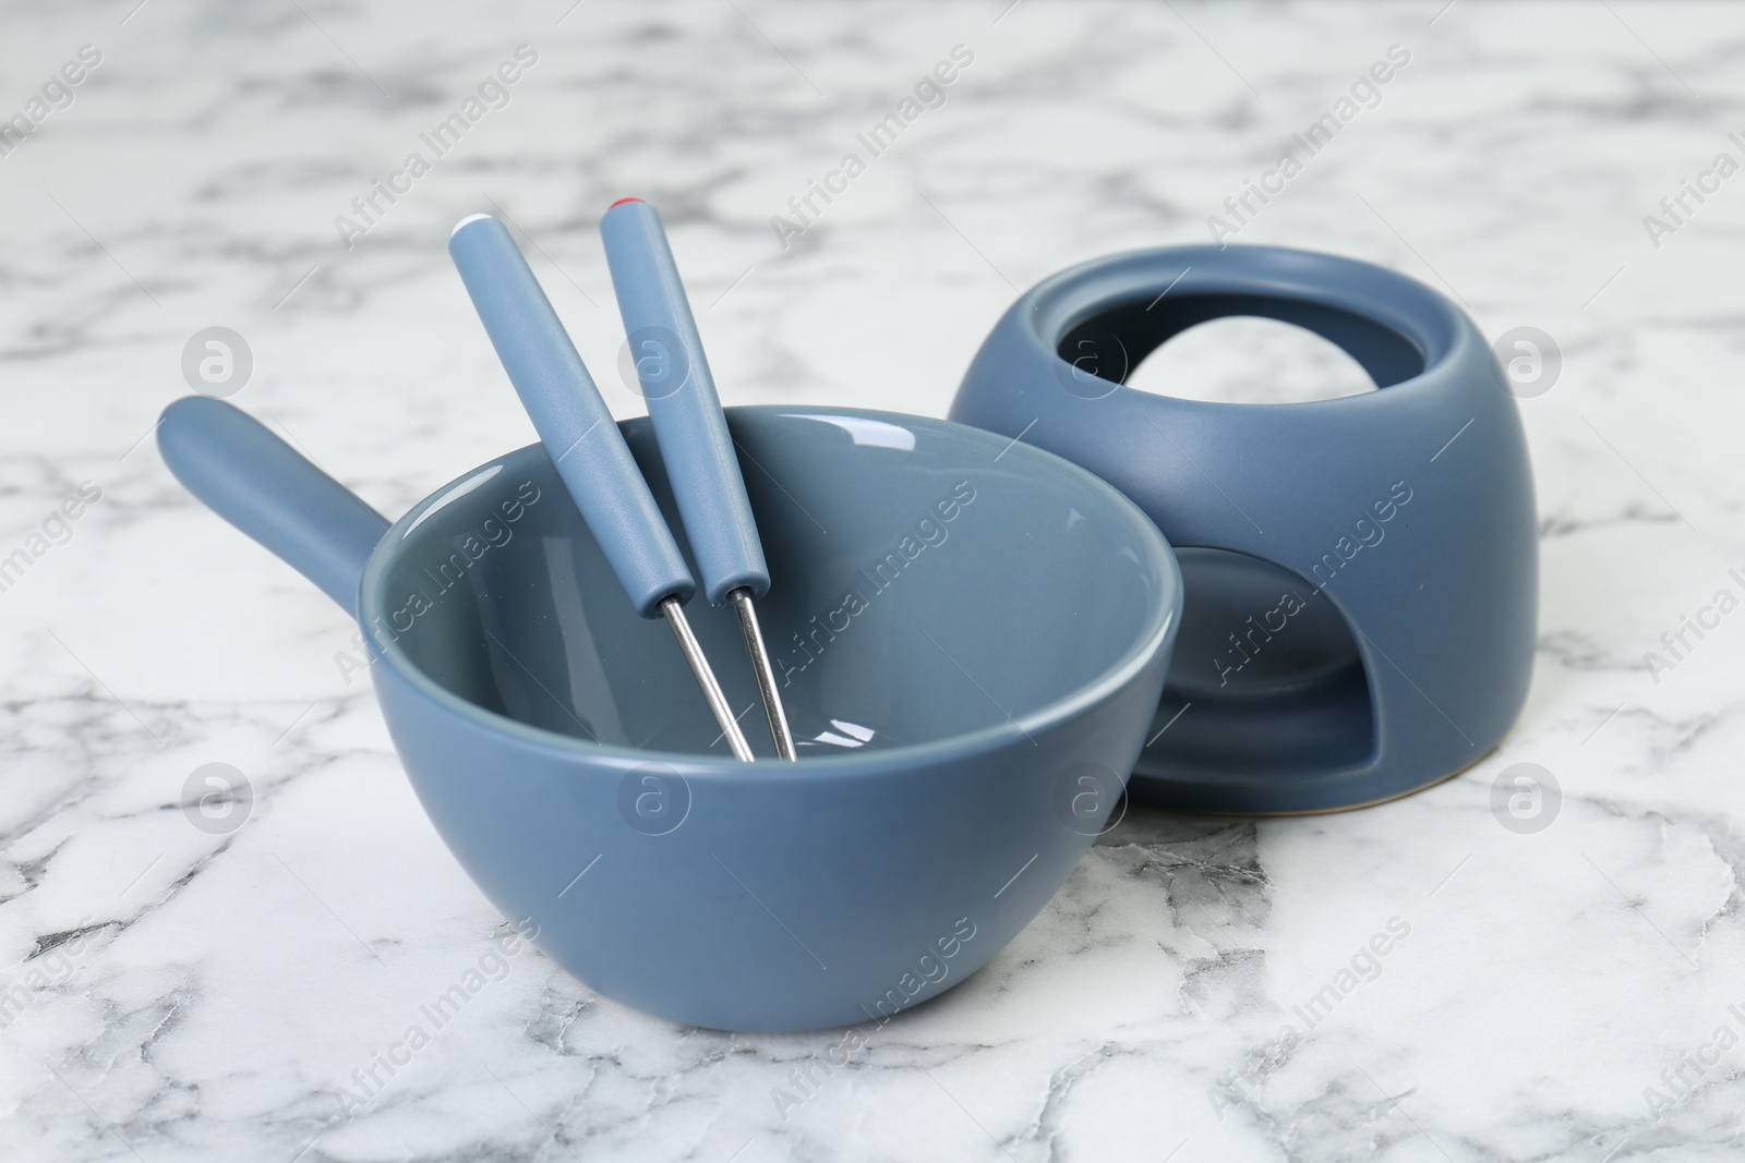
[[[660,617],[661,598],[688,602],[696,579],[515,239],[496,218],[475,214],[454,228],[448,253],[546,453],[637,614]]]

